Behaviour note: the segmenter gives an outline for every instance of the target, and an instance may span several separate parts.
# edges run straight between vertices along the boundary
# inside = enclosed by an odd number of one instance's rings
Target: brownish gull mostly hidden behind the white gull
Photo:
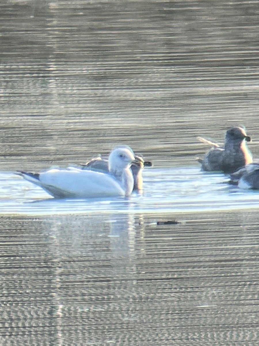
[[[131,171],[134,179],[133,190],[140,191],[143,189],[143,177],[142,172],[144,167],[152,167],[151,161],[144,161],[142,156],[135,155],[135,160],[131,165]],[[89,160],[86,164],[77,164],[77,167],[83,170],[94,170],[101,172],[108,172],[108,158],[105,156],[98,156]]]

